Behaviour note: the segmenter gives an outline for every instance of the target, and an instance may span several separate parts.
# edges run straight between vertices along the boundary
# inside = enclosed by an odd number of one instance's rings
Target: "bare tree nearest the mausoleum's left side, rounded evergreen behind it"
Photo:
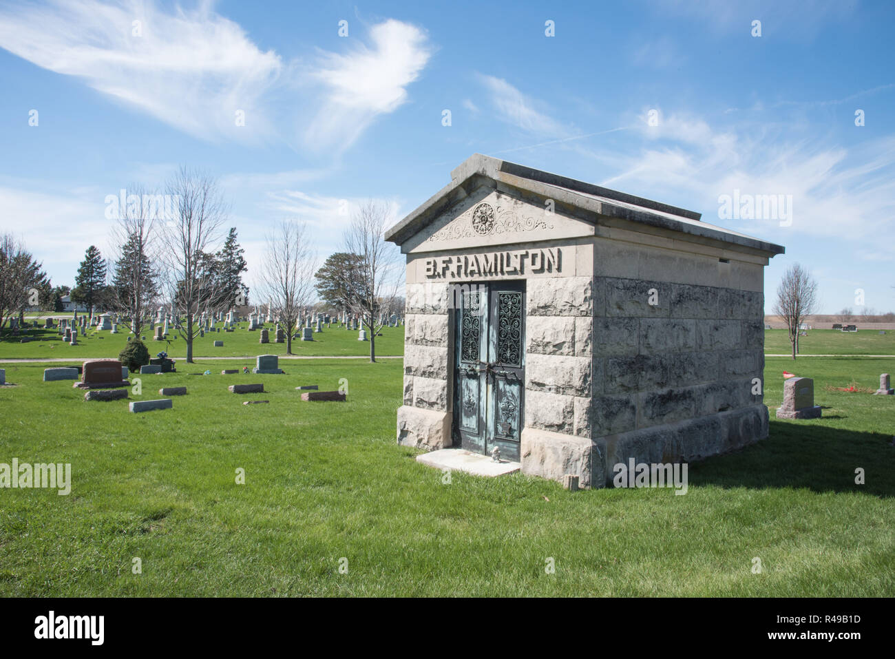
[[[376,361],[376,334],[384,324],[377,323],[377,318],[392,310],[400,284],[396,248],[383,237],[391,215],[388,204],[366,201],[345,231],[345,252],[359,257],[362,284],[360,294],[346,300],[346,304],[349,312],[360,316],[369,329],[371,362]]]

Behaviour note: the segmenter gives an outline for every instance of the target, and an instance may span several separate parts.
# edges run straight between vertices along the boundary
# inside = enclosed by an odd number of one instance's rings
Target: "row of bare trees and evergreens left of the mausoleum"
[[[112,218],[110,253],[90,245],[73,288],[52,286],[42,263],[21,241],[0,235],[0,331],[30,308],[63,311],[62,298],[71,295],[72,303],[83,305],[91,317],[97,310],[117,312],[139,337],[162,306],[174,316],[174,329],[185,339],[187,361],[192,362],[202,315],[249,304],[250,289],[243,281],[248,265],[236,228],[222,235],[229,208],[215,179],[181,167],[164,191],[170,203],[147,204],[143,200],[162,195],[131,186],[127,202]],[[403,311],[403,298],[396,295],[401,270],[394,248],[383,238],[389,218],[387,206],[363,204],[345,231],[344,251],[320,268],[304,224],[274,223],[255,295],[268,303],[268,312],[286,330],[288,353],[301,318],[322,305],[362,321],[375,361],[375,338],[383,321]]]

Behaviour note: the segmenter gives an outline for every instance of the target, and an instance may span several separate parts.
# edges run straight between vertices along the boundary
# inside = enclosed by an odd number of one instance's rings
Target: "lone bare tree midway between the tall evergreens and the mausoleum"
[[[292,354],[292,337],[298,318],[311,307],[317,270],[305,227],[293,220],[279,222],[267,238],[261,266],[261,294],[286,329],[286,354]]]

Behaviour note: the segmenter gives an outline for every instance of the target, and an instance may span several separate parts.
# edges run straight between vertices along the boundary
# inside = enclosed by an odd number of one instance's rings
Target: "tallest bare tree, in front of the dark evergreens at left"
[[[161,225],[158,259],[174,326],[186,342],[186,361],[192,364],[192,342],[200,334],[200,313],[209,311],[214,284],[215,273],[207,260],[209,252],[217,248],[227,211],[217,182],[186,167],[168,182],[166,194],[172,200],[174,217],[165,218]]]

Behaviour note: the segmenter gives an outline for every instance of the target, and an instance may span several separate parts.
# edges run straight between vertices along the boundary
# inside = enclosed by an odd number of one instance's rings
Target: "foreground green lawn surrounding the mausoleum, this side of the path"
[[[767,360],[771,409],[791,364]],[[47,365],[5,364],[0,462],[70,462],[72,493],[0,490],[0,595],[895,595],[895,397],[824,389],[875,386],[891,360],[798,362],[824,418],[771,411],[768,440],[691,465],[685,496],[444,484],[396,445],[397,360],[188,375],[222,368],[200,362],[143,376],[132,399],[190,393],[141,415],[41,382]],[[342,378],[346,403],[294,390]],[[238,381],[269,393],[229,394]]]

